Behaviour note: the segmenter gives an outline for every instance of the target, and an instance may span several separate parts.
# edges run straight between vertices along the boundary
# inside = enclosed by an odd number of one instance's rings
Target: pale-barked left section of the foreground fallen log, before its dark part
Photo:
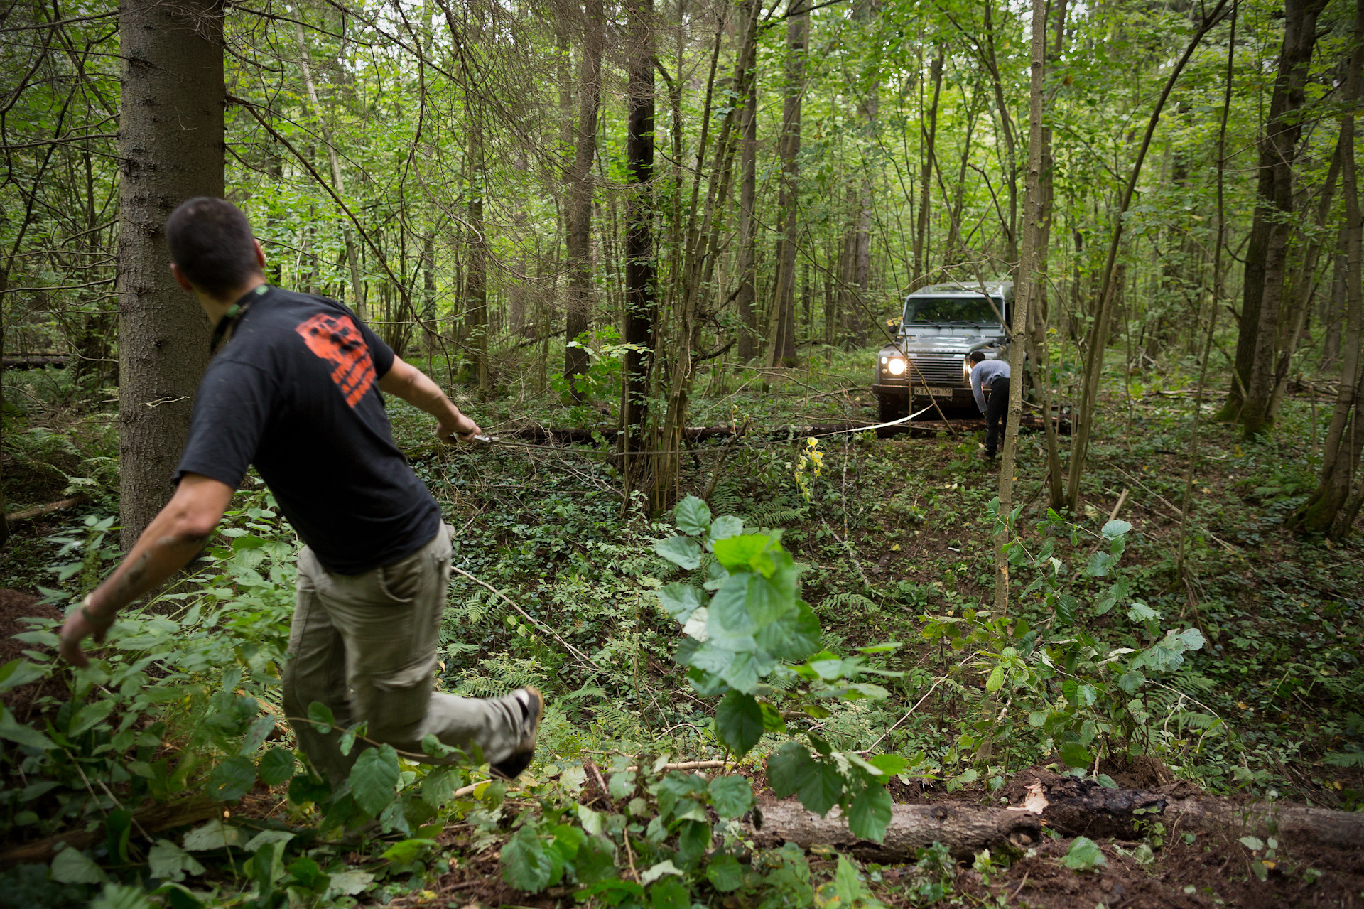
[[[967,803],[892,805],[884,842],[854,837],[837,808],[820,818],[797,801],[762,801],[758,813],[761,826],[754,816],[750,830],[760,846],[775,849],[786,842],[802,849],[832,846],[883,864],[914,861],[918,849],[934,842],[964,858],[982,849],[1027,849],[1042,837],[1042,819],[1030,811]]]

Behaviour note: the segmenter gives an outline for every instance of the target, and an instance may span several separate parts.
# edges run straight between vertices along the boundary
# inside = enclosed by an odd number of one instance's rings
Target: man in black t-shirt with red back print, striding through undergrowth
[[[431,414],[445,441],[477,423],[404,363],[346,307],[265,283],[265,254],[224,199],[190,199],[166,221],[179,284],[226,338],[205,371],[176,493],[123,564],[61,629],[61,654],[86,665],[119,609],[155,588],[203,547],[250,465],[306,543],[284,667],[284,708],[299,745],[333,783],[359,756],[341,732],[420,753],[421,740],[477,745],[516,777],[533,756],[544,699],[535,688],[468,699],[432,691],[450,579],[450,528],[393,442],[381,392]],[[308,706],[326,704],[321,734]]]

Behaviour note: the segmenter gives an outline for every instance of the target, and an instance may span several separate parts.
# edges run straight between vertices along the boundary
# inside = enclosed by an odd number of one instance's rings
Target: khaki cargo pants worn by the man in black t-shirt
[[[286,717],[322,702],[337,726],[322,734],[292,721],[303,752],[333,785],[363,751],[338,748],[341,732],[367,721],[367,737],[421,753],[434,734],[446,745],[483,749],[495,763],[520,740],[521,708],[510,697],[456,697],[432,691],[441,616],[450,581],[450,527],[406,558],[363,575],[333,575],[304,547],[284,666]]]

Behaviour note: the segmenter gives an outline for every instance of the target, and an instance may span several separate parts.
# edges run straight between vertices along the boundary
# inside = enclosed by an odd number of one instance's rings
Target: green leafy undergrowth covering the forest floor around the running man
[[[854,373],[835,358],[702,377],[693,422],[866,419]],[[745,845],[754,790],[842,804],[876,838],[891,801],[998,804],[1035,766],[1135,788],[1168,779],[1143,767],[1168,767],[1230,798],[1359,807],[1361,550],[1279,527],[1312,490],[1320,427],[1292,399],[1258,445],[1204,426],[1178,576],[1191,400],[1178,377],[1161,381],[1112,399],[1075,516],[1048,509],[1041,435],[1020,439],[1015,516],[993,513],[996,474],[975,460],[977,438],[839,434],[745,439],[719,475],[717,445],[700,445],[683,485],[713,480],[709,508],[653,521],[622,508],[618,465],[593,446],[436,449],[427,423],[394,407],[456,530],[456,565],[481,581],[451,584],[438,684],[469,696],[539,685],[550,707],[537,763],[509,786],[468,762],[432,770],[371,748],[329,792],[278,707],[296,540],[248,485],[209,554],[121,621],[93,670],[52,663],[52,618],[33,621],[25,654],[0,669],[5,849],[63,846],[3,872],[0,894],[130,909],[1091,909],[1359,893],[1354,856],[1154,823],[1125,842],[1045,839],[964,863],[928,849],[884,868]],[[494,433],[565,418],[552,390],[461,405]],[[591,408],[573,418],[607,422]],[[0,568],[10,587],[61,605],[115,557],[109,483],[91,460],[104,454],[71,457],[64,471],[93,478],[94,505],[20,536]],[[997,616],[989,535],[1004,520],[1013,598]],[[716,550],[735,539],[767,542]],[[745,580],[726,594],[739,576],[767,592]],[[366,748],[364,730],[351,733]],[[741,756],[737,774],[667,766],[734,768]],[[205,796],[225,823],[143,823],[147,807]]]

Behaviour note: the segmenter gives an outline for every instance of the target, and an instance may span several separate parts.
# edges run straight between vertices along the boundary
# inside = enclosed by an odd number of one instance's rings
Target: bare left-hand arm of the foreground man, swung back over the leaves
[[[120,609],[154,590],[194,558],[222,513],[232,502],[233,489],[201,474],[186,474],[166,506],[147,524],[132,551],[85,605],[61,626],[61,656],[75,666],[87,663],[80,641],[94,635],[97,641],[113,624]]]

